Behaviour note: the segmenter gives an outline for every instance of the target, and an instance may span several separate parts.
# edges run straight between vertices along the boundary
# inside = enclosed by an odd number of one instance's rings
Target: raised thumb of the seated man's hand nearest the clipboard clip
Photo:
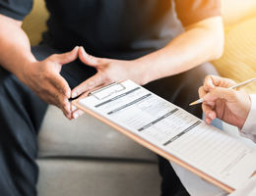
[[[85,65],[92,66],[92,67],[100,67],[100,66],[103,66],[104,64],[106,64],[106,63],[109,62],[108,59],[97,58],[97,57],[94,57],[94,56],[92,56],[92,55],[89,55],[89,54],[85,51],[84,47],[80,47],[80,48],[79,48],[78,55],[79,55],[79,59],[80,59]]]

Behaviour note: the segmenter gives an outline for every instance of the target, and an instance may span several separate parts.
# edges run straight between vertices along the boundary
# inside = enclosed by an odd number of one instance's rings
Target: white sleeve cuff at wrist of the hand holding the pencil
[[[240,134],[256,143],[256,94],[251,94],[251,110]]]

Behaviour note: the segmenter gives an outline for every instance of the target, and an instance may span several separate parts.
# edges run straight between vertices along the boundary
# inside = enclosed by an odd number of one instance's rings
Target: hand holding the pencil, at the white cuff
[[[207,123],[219,118],[242,128],[250,112],[251,100],[243,90],[228,89],[234,84],[233,80],[216,75],[205,78],[204,85],[199,88],[199,95],[204,98],[202,108]]]

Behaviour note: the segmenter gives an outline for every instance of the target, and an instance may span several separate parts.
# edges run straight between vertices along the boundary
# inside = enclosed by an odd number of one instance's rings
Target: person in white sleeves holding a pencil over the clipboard
[[[204,85],[199,88],[200,98],[206,116],[206,123],[216,118],[238,127],[241,135],[256,143],[256,94],[243,90],[228,89],[235,82],[217,75],[208,75]],[[256,176],[230,196],[253,196],[256,194]]]

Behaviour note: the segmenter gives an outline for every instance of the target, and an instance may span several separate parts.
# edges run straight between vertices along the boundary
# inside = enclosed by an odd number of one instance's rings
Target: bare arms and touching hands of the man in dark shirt
[[[204,62],[219,58],[224,48],[222,17],[213,17],[186,26],[185,31],[165,47],[132,61],[97,58],[82,47],[37,61],[31,52],[22,22],[0,15],[0,65],[14,73],[43,101],[59,107],[68,119],[83,114],[68,102],[70,97],[86,95],[96,87],[112,81],[132,79],[138,84],[188,71]],[[80,58],[97,73],[73,90],[60,75],[62,65]]]

